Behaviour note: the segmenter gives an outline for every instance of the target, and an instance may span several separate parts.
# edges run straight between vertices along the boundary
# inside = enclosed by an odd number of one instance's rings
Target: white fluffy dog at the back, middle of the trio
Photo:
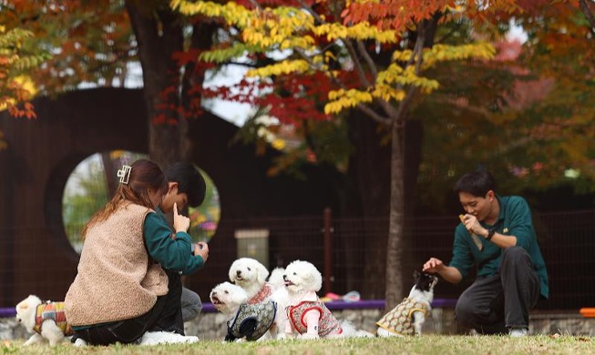
[[[273,270],[272,283],[266,282],[269,270],[260,261],[251,258],[233,261],[229,271],[230,281],[246,291],[247,303],[250,304],[260,303],[272,295],[276,287],[275,283],[282,283],[276,275],[278,272]]]

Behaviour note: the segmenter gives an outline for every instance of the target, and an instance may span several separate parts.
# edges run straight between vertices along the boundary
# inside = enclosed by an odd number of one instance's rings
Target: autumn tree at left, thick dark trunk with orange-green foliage
[[[201,86],[205,68],[183,54],[210,46],[212,24],[182,21],[167,1],[133,0],[14,0],[2,5],[0,18],[7,28],[33,34],[27,48],[55,54],[30,73],[39,95],[125,86],[129,69],[140,65],[136,86],[143,86],[145,95],[149,156],[162,167],[189,158],[185,119],[200,112],[200,96],[181,97]]]

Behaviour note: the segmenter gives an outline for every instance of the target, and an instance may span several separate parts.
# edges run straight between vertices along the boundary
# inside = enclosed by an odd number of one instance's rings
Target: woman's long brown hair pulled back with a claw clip
[[[149,188],[160,189],[161,193],[165,195],[168,192],[168,180],[157,164],[147,159],[138,159],[130,166],[128,183],[120,183],[114,197],[87,222],[81,232],[82,238],[85,238],[88,228],[108,219],[123,201],[153,208],[149,197]]]

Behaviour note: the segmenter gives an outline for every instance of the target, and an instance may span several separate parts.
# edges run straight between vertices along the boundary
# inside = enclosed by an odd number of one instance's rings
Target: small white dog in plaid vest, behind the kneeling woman
[[[16,320],[34,333],[25,345],[47,340],[50,346],[55,346],[74,334],[64,314],[64,302],[44,302],[30,295],[16,305]]]

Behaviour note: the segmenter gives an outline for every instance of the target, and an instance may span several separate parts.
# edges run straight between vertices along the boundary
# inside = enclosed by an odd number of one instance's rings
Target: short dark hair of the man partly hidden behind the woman
[[[188,195],[190,207],[195,208],[202,203],[207,184],[197,167],[191,163],[177,162],[167,167],[163,173],[168,177],[169,182],[178,183],[178,193]]]

